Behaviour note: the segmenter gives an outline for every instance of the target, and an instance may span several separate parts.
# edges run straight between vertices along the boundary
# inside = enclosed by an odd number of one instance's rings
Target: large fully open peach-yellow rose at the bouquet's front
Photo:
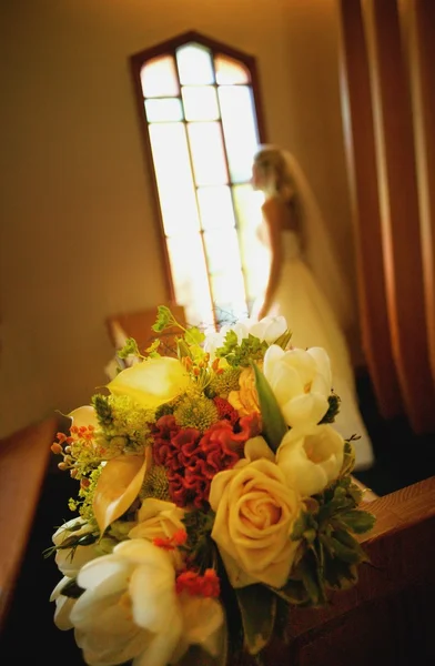
[[[275,463],[243,460],[220,472],[212,481],[210,504],[216,513],[212,538],[232,586],[285,585],[300,545],[290,535],[303,505]]]

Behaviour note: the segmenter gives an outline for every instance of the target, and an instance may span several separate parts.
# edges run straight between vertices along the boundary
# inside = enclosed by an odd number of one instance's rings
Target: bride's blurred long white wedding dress
[[[266,244],[264,223],[259,229],[259,239]],[[355,470],[366,470],[374,463],[372,442],[360,412],[355,377],[347,344],[333,310],[302,258],[297,232],[282,232],[284,262],[280,284],[269,315],[283,315],[292,332],[291,344],[295,347],[321,346],[331,359],[333,390],[341,398],[340,413],[334,427],[347,438],[357,435],[354,442]],[[259,301],[260,302],[260,301]],[[253,311],[255,316],[255,306]]]

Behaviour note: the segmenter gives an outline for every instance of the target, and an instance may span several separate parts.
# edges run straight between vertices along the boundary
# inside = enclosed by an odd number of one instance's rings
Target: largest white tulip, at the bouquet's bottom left
[[[184,604],[176,594],[173,559],[148,539],[121,542],[110,555],[84,565],[77,582],[84,593],[70,619],[90,666],[131,659],[133,666],[166,666],[190,643],[206,648],[223,622],[214,599],[208,613],[200,606],[193,612],[190,599]]]

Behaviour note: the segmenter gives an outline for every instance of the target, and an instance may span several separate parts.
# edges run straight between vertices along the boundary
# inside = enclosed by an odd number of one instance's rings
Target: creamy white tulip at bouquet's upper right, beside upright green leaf
[[[287,425],[316,425],[326,414],[332,380],[322,347],[284,352],[273,344],[264,355],[263,373]]]

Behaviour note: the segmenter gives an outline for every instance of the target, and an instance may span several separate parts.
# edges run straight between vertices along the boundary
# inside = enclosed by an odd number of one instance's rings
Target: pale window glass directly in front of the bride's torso
[[[233,196],[246,296],[252,303],[264,292],[270,266],[270,252],[257,235],[264,196],[260,192],[254,192],[250,185],[236,185],[233,189]]]

